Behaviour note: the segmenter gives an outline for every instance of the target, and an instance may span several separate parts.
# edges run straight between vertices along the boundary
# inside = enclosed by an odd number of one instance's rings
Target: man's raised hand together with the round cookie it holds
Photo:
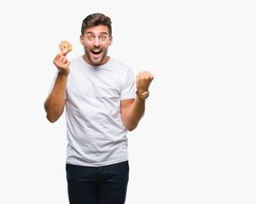
[[[72,44],[68,41],[62,41],[59,45],[59,48],[61,50],[61,53],[55,56],[53,63],[62,75],[67,76],[70,71],[70,61],[68,61],[66,55],[67,53],[72,51]]]

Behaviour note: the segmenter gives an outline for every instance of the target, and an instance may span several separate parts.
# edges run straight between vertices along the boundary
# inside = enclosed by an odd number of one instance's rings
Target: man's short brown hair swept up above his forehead
[[[84,30],[86,28],[103,25],[103,26],[108,26],[108,34],[109,34],[109,37],[111,37],[112,35],[111,23],[112,22],[110,18],[104,14],[100,14],[100,13],[90,14],[83,20],[82,28],[81,28],[82,36],[84,36]]]

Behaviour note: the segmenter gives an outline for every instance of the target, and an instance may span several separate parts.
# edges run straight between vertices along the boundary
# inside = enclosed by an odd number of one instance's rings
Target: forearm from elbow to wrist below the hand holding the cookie
[[[47,113],[46,117],[49,122],[56,122],[64,111],[66,87],[67,76],[63,76],[59,73],[55,80],[55,87],[44,103],[44,109]]]

